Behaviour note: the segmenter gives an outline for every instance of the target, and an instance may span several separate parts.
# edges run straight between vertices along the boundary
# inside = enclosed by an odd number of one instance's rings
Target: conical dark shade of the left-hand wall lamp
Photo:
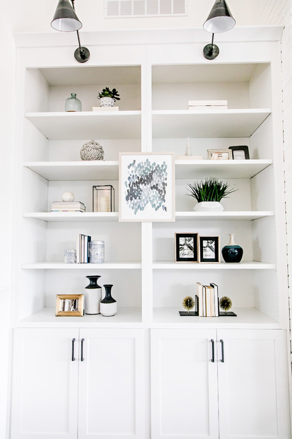
[[[69,0],[59,0],[51,27],[62,32],[74,32],[82,27]]]

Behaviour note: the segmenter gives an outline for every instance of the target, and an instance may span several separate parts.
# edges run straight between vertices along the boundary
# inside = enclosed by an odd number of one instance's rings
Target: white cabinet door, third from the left
[[[218,438],[215,330],[151,330],[151,439]]]

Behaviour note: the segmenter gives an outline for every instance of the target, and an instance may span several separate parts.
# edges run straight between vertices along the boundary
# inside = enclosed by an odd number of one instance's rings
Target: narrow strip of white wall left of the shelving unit
[[[7,399],[10,365],[10,297],[11,247],[12,247],[12,197],[13,197],[13,149],[14,149],[14,40],[10,24],[6,19],[5,6],[0,14],[0,38],[3,57],[0,61],[1,106],[0,106],[0,218],[1,218],[1,252],[0,252],[0,438],[5,438]]]

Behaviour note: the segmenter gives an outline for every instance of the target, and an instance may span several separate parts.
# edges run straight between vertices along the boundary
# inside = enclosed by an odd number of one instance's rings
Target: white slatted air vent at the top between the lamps
[[[186,0],[104,0],[105,18],[186,15]]]

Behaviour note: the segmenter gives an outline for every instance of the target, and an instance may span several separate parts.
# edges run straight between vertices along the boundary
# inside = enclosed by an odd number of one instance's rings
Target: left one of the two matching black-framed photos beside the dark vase
[[[175,262],[199,262],[198,234],[175,233]]]

